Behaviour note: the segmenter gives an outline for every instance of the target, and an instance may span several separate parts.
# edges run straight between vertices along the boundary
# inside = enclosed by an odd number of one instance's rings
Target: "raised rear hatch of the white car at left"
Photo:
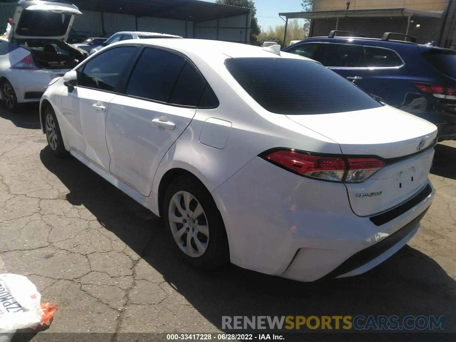
[[[78,7],[63,0],[21,0],[17,3],[9,40],[68,39]]]

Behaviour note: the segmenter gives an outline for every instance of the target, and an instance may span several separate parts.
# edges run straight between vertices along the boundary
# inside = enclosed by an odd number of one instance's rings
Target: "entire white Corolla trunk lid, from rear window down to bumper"
[[[352,210],[370,216],[388,210],[426,184],[437,135],[430,122],[393,107],[356,112],[287,115],[302,126],[336,141],[343,155],[377,157],[386,162],[366,181],[345,183]]]

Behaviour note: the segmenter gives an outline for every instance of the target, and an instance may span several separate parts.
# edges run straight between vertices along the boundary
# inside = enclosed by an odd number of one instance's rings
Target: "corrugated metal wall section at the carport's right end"
[[[250,15],[242,15],[198,22],[194,24],[194,38],[234,41],[248,44],[250,41],[250,20]]]

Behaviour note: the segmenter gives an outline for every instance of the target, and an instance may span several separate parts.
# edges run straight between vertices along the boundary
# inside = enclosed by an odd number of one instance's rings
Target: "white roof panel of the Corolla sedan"
[[[219,55],[224,56],[225,58],[233,57],[270,57],[270,58],[293,58],[293,59],[305,59],[310,60],[309,58],[295,55],[288,52],[280,52],[280,55],[277,55],[273,52],[264,50],[262,47],[257,47],[254,45],[234,43],[230,41],[213,41],[208,39],[140,39],[140,42],[145,45],[157,46],[169,48],[176,50],[178,52],[187,54],[187,55],[196,55],[199,57],[207,57],[210,55]],[[131,41],[119,41],[112,46],[131,44]]]

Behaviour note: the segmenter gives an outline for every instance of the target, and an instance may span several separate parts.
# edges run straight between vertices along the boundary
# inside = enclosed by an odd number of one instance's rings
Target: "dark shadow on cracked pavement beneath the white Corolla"
[[[69,189],[67,201],[86,207],[219,329],[222,316],[434,315],[446,316],[445,331],[455,332],[456,282],[418,250],[407,246],[367,274],[319,283],[235,266],[202,273],[181,262],[161,220],[147,209],[73,158],[57,159],[49,147],[40,157]]]

